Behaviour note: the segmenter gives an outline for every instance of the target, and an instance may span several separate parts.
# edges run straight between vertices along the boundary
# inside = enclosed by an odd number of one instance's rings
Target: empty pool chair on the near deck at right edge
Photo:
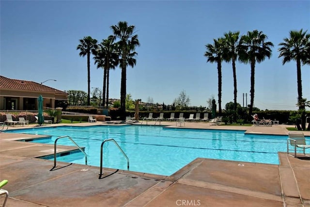
[[[304,155],[305,149],[310,148],[310,144],[306,143],[307,141],[310,141],[310,139],[306,139],[304,136],[304,133],[301,131],[290,131],[289,132],[289,138],[287,139],[287,154],[290,155],[289,151],[294,150],[294,157],[296,157],[296,151],[297,150],[303,150]],[[294,149],[290,149],[290,145],[294,147]],[[298,149],[300,148],[300,149]],[[292,156],[292,155],[291,155]]]

